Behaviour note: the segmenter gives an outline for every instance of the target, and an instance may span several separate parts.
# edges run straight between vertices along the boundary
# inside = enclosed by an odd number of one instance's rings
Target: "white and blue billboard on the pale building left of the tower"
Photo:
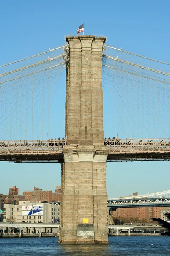
[[[43,216],[43,205],[22,205],[22,216]]]

